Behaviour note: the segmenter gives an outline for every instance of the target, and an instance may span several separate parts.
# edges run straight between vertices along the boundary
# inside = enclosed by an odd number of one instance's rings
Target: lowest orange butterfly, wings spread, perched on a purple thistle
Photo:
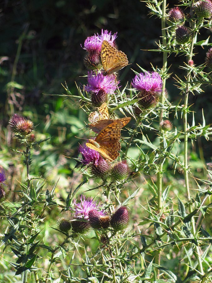
[[[115,160],[119,156],[118,151],[121,149],[119,142],[121,128],[122,122],[114,121],[101,130],[95,140],[89,139],[86,146],[96,150],[104,159]]]

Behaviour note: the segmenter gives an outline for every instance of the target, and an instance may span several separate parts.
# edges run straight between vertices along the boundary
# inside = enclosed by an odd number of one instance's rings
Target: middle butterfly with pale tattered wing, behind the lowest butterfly
[[[121,119],[109,119],[109,113],[106,103],[102,103],[102,105],[98,108],[99,114],[97,111],[91,112],[88,120],[90,122],[89,127],[91,130],[93,130],[95,133],[101,132],[104,128],[106,128],[108,125],[114,123],[115,121],[122,122],[122,128],[126,126],[129,121],[131,120],[131,117],[124,117]]]

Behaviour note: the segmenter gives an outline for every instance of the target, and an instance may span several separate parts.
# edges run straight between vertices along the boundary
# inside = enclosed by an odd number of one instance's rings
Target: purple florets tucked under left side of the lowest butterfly
[[[84,165],[89,163],[97,165],[99,159],[101,158],[100,154],[96,150],[90,149],[85,143],[83,145],[79,145],[79,153],[82,154],[81,162]]]

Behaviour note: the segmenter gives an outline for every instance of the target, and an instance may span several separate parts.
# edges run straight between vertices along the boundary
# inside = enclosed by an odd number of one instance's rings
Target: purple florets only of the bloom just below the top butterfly
[[[88,85],[85,86],[85,90],[87,92],[106,92],[106,93],[114,93],[117,88],[115,75],[104,76],[101,73],[97,75],[92,74],[91,72],[88,73]]]

